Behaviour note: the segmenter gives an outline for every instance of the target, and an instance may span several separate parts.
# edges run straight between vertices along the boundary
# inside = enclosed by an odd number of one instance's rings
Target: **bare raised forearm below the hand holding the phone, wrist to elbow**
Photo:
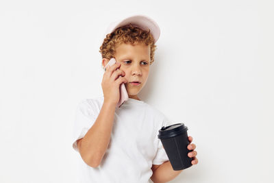
[[[114,121],[115,104],[103,103],[95,123],[84,138],[77,141],[82,159],[90,167],[98,167],[110,143]]]

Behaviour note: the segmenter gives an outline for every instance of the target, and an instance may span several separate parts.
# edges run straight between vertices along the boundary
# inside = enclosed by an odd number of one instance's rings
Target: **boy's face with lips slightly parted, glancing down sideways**
[[[121,44],[116,47],[115,60],[121,62],[120,69],[125,72],[125,88],[129,98],[139,99],[137,94],[145,86],[149,77],[150,47],[145,44]],[[138,81],[134,85],[130,82]]]

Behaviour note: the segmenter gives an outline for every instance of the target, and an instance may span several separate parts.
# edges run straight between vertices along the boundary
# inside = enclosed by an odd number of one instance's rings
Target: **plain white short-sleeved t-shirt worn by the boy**
[[[76,141],[95,123],[102,106],[103,97],[79,102],[73,128],[73,149],[78,153]],[[110,143],[99,167],[88,166],[79,154],[80,182],[149,182],[152,164],[169,160],[158,138],[158,130],[166,125],[162,112],[144,101],[129,98],[115,110]]]

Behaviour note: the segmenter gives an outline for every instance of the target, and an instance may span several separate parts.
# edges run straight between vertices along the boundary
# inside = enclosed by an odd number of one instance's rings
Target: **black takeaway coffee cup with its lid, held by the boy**
[[[187,169],[192,166],[191,161],[193,158],[189,158],[188,153],[193,150],[187,148],[189,145],[187,130],[188,127],[184,123],[176,123],[166,127],[163,126],[158,131],[158,138],[164,146],[173,170]]]

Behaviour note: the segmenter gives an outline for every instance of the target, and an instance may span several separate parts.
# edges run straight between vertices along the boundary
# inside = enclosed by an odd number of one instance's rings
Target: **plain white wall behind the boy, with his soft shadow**
[[[185,123],[199,163],[171,182],[274,182],[273,1],[1,1],[0,182],[77,182],[77,103],[103,95],[112,21],[161,28],[140,99]],[[272,173],[272,174],[271,174]]]

